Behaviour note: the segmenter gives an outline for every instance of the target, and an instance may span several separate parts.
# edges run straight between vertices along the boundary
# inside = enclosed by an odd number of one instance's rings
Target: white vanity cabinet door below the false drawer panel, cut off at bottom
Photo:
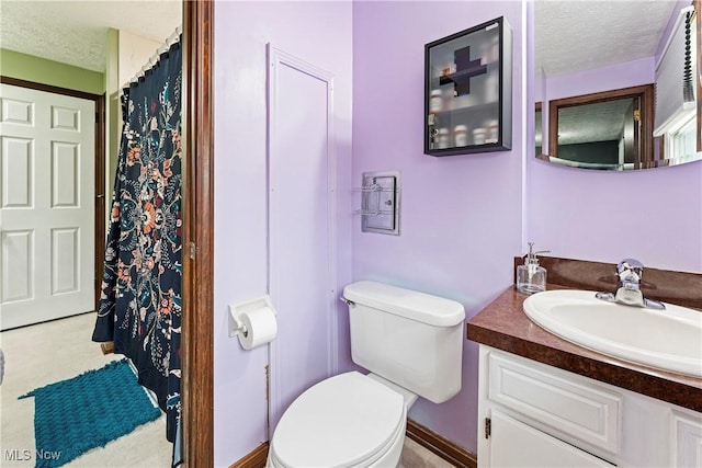
[[[499,411],[492,410],[490,420],[492,467],[614,466]]]

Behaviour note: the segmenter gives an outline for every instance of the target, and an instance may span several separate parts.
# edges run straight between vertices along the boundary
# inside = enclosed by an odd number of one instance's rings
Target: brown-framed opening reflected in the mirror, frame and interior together
[[[625,170],[654,161],[654,87],[633,87],[550,103],[550,161]]]

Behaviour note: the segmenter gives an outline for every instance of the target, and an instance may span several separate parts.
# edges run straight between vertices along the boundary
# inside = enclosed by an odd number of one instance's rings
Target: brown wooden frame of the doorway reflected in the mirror
[[[654,161],[653,127],[655,91],[653,83],[548,101],[548,155],[546,156],[558,156],[558,110],[627,98],[641,99],[641,153],[635,162],[635,169],[647,167],[647,163]]]

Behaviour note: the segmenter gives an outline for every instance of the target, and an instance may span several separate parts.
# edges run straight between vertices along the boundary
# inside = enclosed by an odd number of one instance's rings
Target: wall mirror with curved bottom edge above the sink
[[[699,15],[690,12],[686,24],[691,4],[534,0],[536,158],[599,170],[648,169],[702,159],[695,95]],[[676,42],[686,38],[690,41],[687,57],[684,42]],[[679,49],[683,52],[666,54]],[[666,56],[680,57],[680,66],[667,65]],[[664,90],[675,89],[675,96],[682,101],[683,80],[676,81],[680,84],[675,88],[665,79],[666,70],[682,70],[686,58],[692,95],[686,95],[680,106],[661,109],[661,102],[671,101]],[[664,96],[658,104],[654,85]]]

